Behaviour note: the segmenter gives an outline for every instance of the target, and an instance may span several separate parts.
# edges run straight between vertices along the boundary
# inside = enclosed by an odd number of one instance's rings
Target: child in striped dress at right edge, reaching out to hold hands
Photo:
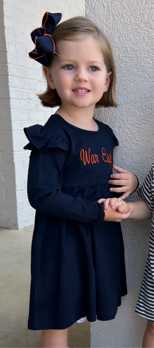
[[[142,200],[126,203],[117,198],[107,199],[104,201],[104,208],[107,209],[110,204],[110,208],[114,209],[115,204],[117,206],[119,202],[117,208],[119,212],[125,213],[131,208],[129,219],[148,220],[152,218],[149,254],[135,311],[148,320],[142,348],[154,348],[154,163],[138,190],[138,194]]]

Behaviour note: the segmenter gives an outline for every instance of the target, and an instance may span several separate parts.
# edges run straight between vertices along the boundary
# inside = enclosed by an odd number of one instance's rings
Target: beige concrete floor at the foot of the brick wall
[[[33,227],[0,228],[0,347],[40,348],[40,331],[27,329],[30,293],[30,251]],[[70,348],[90,347],[90,323],[68,331]]]

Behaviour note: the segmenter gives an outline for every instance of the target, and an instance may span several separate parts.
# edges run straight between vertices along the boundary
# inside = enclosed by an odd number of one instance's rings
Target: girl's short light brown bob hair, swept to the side
[[[101,106],[115,106],[116,108],[117,103],[115,101],[115,63],[111,45],[104,33],[92,21],[90,21],[90,19],[82,16],[73,17],[58,24],[52,33],[52,39],[55,41],[55,44],[59,40],[82,40],[86,36],[91,36],[98,43],[104,57],[107,72],[112,71],[110,86],[107,92],[105,92],[102,98],[96,103],[96,108],[99,108]],[[48,57],[50,64],[52,63],[52,57],[52,54]],[[41,104],[43,106],[54,108],[55,106],[62,104],[56,89],[51,89],[48,81],[46,91],[44,93],[38,94],[38,97],[40,98]]]

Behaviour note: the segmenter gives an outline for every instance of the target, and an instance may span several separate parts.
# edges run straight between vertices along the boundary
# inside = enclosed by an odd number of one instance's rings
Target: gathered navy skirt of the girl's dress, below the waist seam
[[[28,328],[66,329],[115,318],[127,294],[120,223],[83,223],[36,212]]]

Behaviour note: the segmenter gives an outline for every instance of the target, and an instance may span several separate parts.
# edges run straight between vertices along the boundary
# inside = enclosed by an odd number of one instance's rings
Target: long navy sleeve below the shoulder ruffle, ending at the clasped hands
[[[31,206],[42,213],[63,219],[102,222],[105,213],[101,204],[62,192],[62,168],[67,151],[62,149],[58,141],[57,147],[54,145],[47,151],[29,145],[25,149],[32,149],[27,182]]]

